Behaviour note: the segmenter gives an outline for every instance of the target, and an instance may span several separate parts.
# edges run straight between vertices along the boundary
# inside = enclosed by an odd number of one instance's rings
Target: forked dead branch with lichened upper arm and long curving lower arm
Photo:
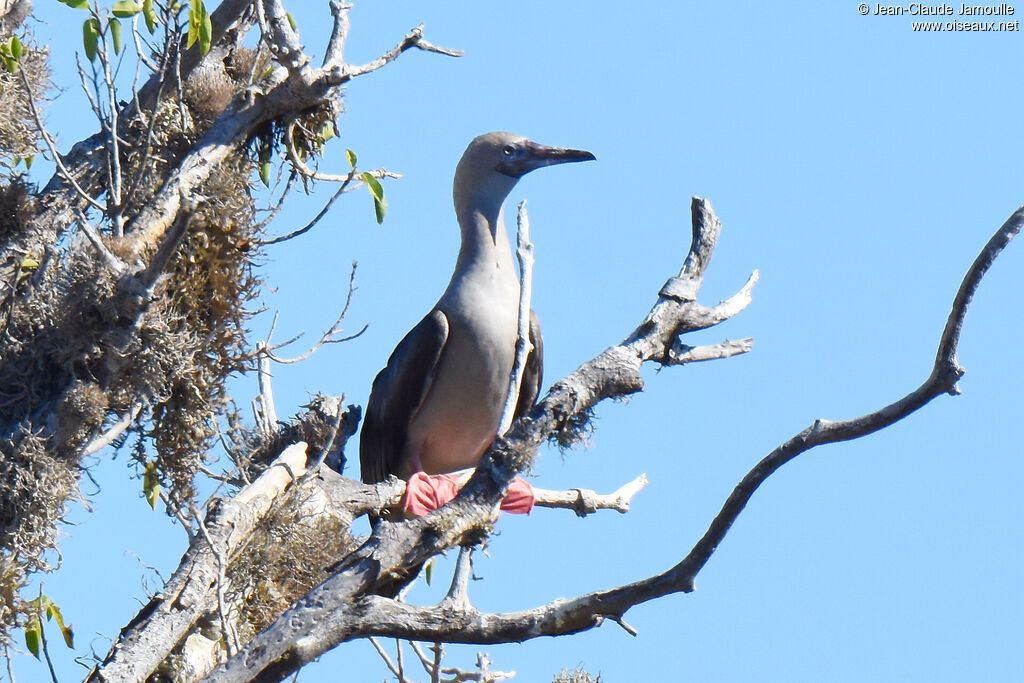
[[[259,674],[254,680],[281,680],[338,642],[369,635],[499,643],[575,633],[598,626],[605,618],[623,624],[625,612],[636,604],[692,591],[696,574],[754,492],[786,462],[816,445],[883,429],[940,394],[956,393],[956,381],[964,373],[956,359],[956,344],[967,309],[989,266],[1024,225],[1024,207],[999,228],[969,269],[953,301],[928,379],[906,396],[873,413],[837,422],[817,420],[772,451],[743,477],[693,549],[667,571],[627,586],[507,614],[481,614],[471,607],[461,610],[441,605],[416,607],[374,595],[376,586],[386,584],[389,575],[408,566],[402,561],[423,561],[437,549],[452,547],[447,544],[457,544],[474,531],[485,531],[493,522],[493,508],[504,487],[529,463],[534,450],[544,438],[557,433],[569,416],[588,410],[601,398],[639,390],[642,381],[638,370],[643,361],[662,361],[678,335],[693,329],[689,326],[721,317],[722,311],[701,310],[692,305],[691,293],[695,295],[699,289],[718,236],[718,221],[702,200],[693,202],[693,245],[679,276],[683,282],[670,281],[650,314],[623,344],[608,349],[555,385],[529,416],[518,421],[510,434],[492,447],[452,504],[421,519],[382,524],[360,552],[338,567],[334,577],[208,680],[248,680],[255,672]],[[742,308],[744,297],[737,297],[722,306],[727,310],[732,306]]]

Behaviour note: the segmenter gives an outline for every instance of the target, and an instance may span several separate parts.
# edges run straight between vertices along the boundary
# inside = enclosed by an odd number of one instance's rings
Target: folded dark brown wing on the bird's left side
[[[398,471],[409,423],[430,389],[447,334],[447,317],[432,311],[398,343],[374,380],[359,435],[359,474],[365,483],[377,483]]]

